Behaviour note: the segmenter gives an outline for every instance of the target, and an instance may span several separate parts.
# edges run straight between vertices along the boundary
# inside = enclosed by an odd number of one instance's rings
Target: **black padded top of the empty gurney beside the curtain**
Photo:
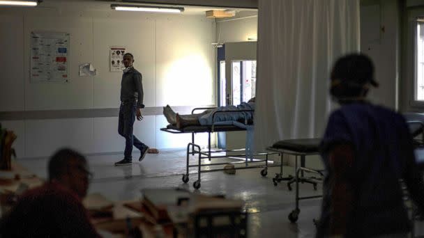
[[[321,138],[301,138],[284,141],[277,141],[273,148],[282,150],[291,150],[294,152],[318,152]]]

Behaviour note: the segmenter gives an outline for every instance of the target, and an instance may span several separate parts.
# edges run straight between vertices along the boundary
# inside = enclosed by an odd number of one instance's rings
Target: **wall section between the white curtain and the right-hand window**
[[[369,98],[391,109],[399,107],[400,32],[399,1],[361,1],[361,51],[372,58],[380,84]]]

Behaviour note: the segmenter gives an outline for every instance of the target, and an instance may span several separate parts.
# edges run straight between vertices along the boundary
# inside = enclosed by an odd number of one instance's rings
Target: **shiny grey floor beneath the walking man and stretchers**
[[[135,158],[139,156],[133,155]],[[121,159],[120,154],[89,156],[89,166],[94,173],[89,193],[100,192],[111,200],[130,200],[140,198],[140,189],[149,187],[183,187],[193,191],[192,182],[197,180],[196,168],[190,168],[188,184],[181,181],[185,173],[185,158],[183,150],[165,150],[160,154],[147,154],[141,163],[136,161],[131,166],[114,166],[114,162]],[[195,157],[190,157],[190,164],[195,161]],[[22,159],[20,163],[40,177],[46,177],[47,158]],[[199,192],[243,199],[245,209],[250,212],[249,237],[314,237],[312,219],[319,216],[321,200],[301,201],[298,222],[290,223],[287,216],[294,209],[294,191],[289,191],[285,182],[274,187],[272,177],[279,171],[278,167],[269,168],[267,177],[259,175],[260,170],[237,170],[236,175],[222,171],[202,173]],[[292,171],[293,168],[284,168],[286,175]],[[319,195],[320,190],[321,187],[314,191],[310,184],[301,186],[303,195]]]

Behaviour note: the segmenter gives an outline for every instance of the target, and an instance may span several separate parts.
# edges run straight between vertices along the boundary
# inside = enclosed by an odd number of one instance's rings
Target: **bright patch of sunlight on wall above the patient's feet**
[[[173,106],[213,104],[213,69],[206,56],[188,55],[165,65],[162,90],[165,102]]]

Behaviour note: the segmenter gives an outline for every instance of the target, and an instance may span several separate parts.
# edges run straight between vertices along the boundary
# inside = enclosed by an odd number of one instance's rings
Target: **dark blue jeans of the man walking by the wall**
[[[118,133],[125,138],[125,150],[123,152],[124,159],[132,159],[132,145],[139,150],[147,147],[137,137],[132,134],[135,122],[135,110],[137,109],[134,102],[122,102],[119,108],[119,125]]]

